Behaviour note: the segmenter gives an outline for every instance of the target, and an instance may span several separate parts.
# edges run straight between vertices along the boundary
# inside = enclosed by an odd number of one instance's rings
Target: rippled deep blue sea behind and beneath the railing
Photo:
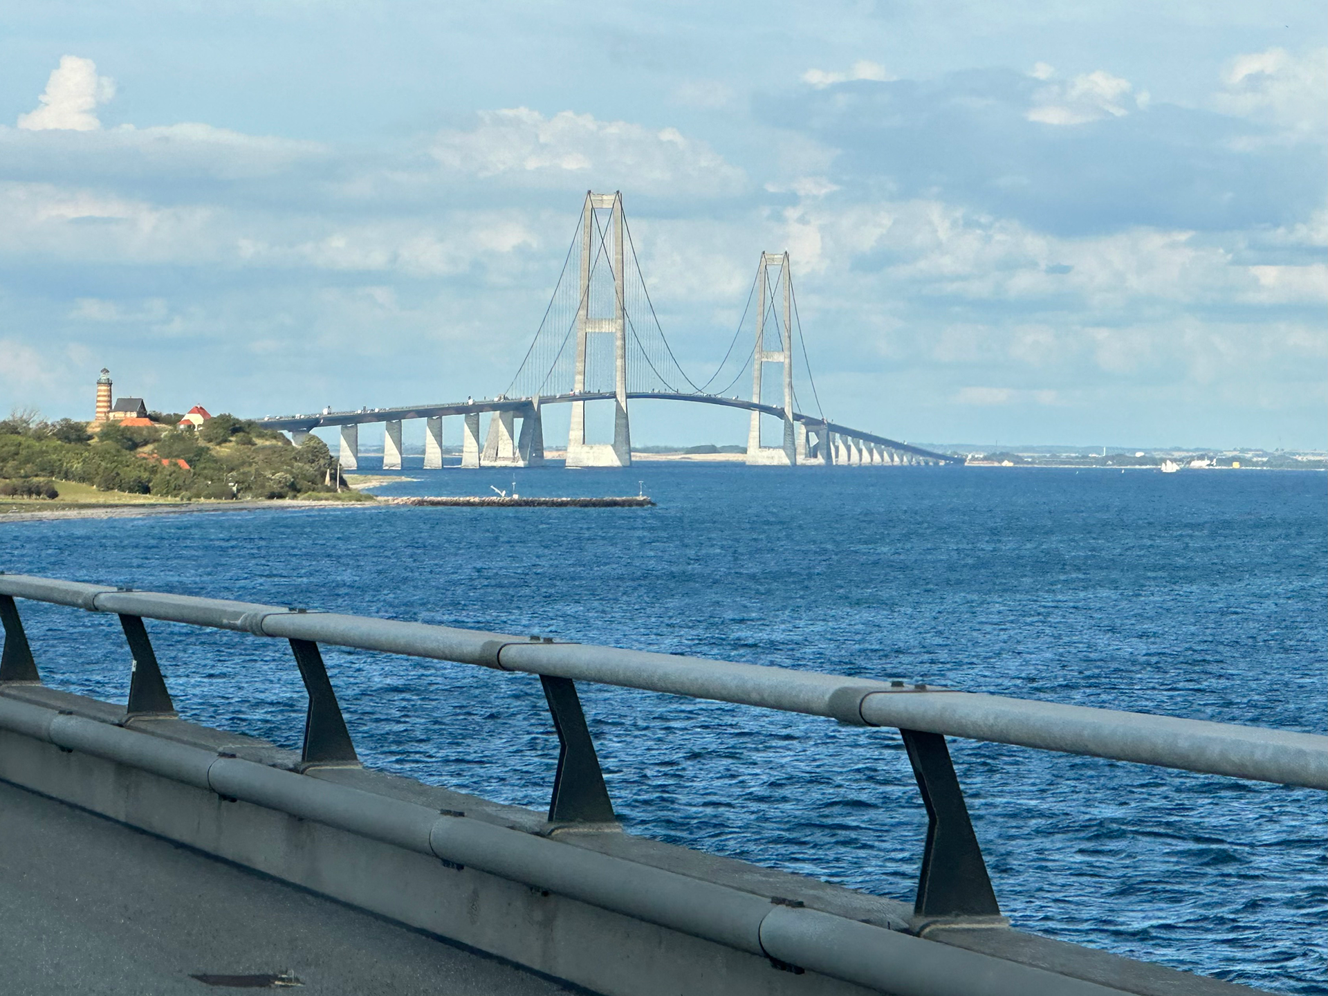
[[[644,489],[659,507],[8,523],[0,570],[1325,732],[1321,473],[651,462],[398,477],[418,479],[378,493],[487,494],[515,478],[533,495]],[[50,684],[124,701],[114,616],[21,610]],[[186,718],[299,746],[284,644],[150,629]],[[556,740],[534,677],[325,656],[367,764],[547,806]],[[580,692],[631,831],[911,899],[926,815],[892,730]],[[1328,992],[1323,793],[951,750],[1017,927]]]

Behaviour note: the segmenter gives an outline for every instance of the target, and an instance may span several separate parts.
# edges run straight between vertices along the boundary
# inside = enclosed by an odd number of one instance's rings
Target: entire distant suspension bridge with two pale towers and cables
[[[744,347],[748,348],[744,348]],[[801,377],[794,372],[801,360]],[[749,397],[730,392],[750,377]],[[802,410],[805,380],[815,414]],[[724,385],[724,386],[717,386]],[[829,421],[821,410],[797,312],[788,252],[762,252],[729,348],[708,378],[687,374],[664,336],[631,230],[623,195],[587,193],[558,286],[526,356],[495,398],[409,408],[324,409],[256,420],[301,442],[317,428],[341,430],[341,466],[359,466],[360,426],[384,424],[385,470],[401,469],[401,425],[425,422],[426,469],[442,467],[442,420],[462,418],[461,466],[531,467],[544,463],[542,412],[571,405],[566,466],[624,467],[632,462],[629,401],[677,401],[750,412],[746,462],[770,466],[943,465],[955,457]],[[586,406],[612,402],[612,442],[587,440]],[[479,416],[489,413],[481,442]]]

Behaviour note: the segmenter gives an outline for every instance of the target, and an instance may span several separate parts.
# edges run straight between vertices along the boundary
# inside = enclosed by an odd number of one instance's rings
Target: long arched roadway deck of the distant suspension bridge
[[[632,390],[627,393],[629,401],[687,401],[689,404],[701,405],[718,405],[721,408],[737,408],[744,412],[760,412],[762,414],[773,416],[774,418],[784,418],[784,409],[776,405],[764,405],[756,401],[749,401],[740,397],[721,397],[718,394],[687,394],[681,392],[661,392],[661,390]],[[566,405],[572,401],[612,401],[614,392],[580,392],[580,393],[567,393],[567,394],[546,394],[540,396],[538,405],[543,408],[546,405]],[[452,401],[437,405],[416,405],[413,408],[361,408],[357,412],[325,412],[317,414],[295,414],[295,416],[267,416],[264,418],[256,418],[260,426],[264,429],[280,429],[286,432],[309,432],[311,429],[323,429],[341,425],[367,425],[372,422],[396,422],[406,421],[410,418],[438,418],[442,416],[467,416],[477,414],[481,412],[529,412],[535,406],[534,398],[485,398],[483,401]],[[900,442],[898,440],[890,440],[884,436],[875,436],[874,433],[862,432],[861,429],[851,429],[846,425],[839,425],[838,422],[830,422],[825,418],[811,414],[803,414],[802,412],[794,412],[793,420],[795,422],[802,422],[809,428],[825,429],[826,432],[834,433],[835,436],[847,436],[854,440],[861,440],[863,442],[875,444],[876,446],[886,446],[892,450],[899,450],[900,453],[911,453],[916,457],[923,457],[926,459],[934,459],[943,463],[959,463],[963,462],[956,457],[947,456],[944,453],[935,453],[932,450],[923,449],[922,446],[910,446],[907,442]]]

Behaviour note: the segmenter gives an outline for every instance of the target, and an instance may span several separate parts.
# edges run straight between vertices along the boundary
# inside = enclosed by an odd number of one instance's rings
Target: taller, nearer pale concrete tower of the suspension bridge
[[[610,211],[608,230],[602,234],[595,220],[596,210]],[[576,367],[572,393],[586,390],[586,345],[591,336],[614,336],[614,441],[586,442],[586,402],[572,401],[571,426],[567,433],[567,466],[625,467],[632,463],[632,440],[627,421],[627,312],[624,307],[623,195],[587,191],[582,208],[580,297],[576,308]],[[600,252],[612,259],[614,313],[595,316],[591,308],[591,276]]]

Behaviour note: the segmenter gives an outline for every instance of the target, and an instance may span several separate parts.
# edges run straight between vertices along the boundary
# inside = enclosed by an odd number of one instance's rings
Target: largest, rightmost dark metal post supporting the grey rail
[[[912,729],[899,733],[927,807],[927,845],[914,912],[918,916],[1000,916],[946,737]]]

